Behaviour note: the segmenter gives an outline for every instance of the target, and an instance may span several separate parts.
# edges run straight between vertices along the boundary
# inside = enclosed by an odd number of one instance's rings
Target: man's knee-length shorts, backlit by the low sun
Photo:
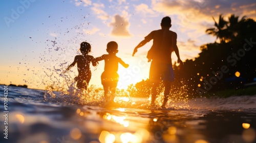
[[[150,66],[150,81],[174,81],[174,70],[172,64],[160,63],[152,61]]]

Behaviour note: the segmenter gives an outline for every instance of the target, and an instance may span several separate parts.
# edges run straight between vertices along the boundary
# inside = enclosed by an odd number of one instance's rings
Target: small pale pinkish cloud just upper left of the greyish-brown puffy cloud
[[[110,17],[108,13],[102,10],[104,7],[105,6],[103,4],[97,4],[97,3],[94,3],[92,7],[92,11],[94,12],[94,14],[96,14],[97,17],[100,18],[101,20],[106,20]]]

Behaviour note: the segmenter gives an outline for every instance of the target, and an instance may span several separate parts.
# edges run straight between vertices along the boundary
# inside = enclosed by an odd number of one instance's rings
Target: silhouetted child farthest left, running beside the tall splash
[[[88,42],[82,42],[79,50],[82,55],[75,56],[74,62],[68,66],[66,71],[77,63],[78,76],[75,77],[75,80],[77,81],[76,87],[87,90],[87,86],[92,77],[90,63],[94,58],[93,56],[88,55],[89,52],[91,52],[91,44]],[[96,66],[96,63],[93,63],[93,66]]]

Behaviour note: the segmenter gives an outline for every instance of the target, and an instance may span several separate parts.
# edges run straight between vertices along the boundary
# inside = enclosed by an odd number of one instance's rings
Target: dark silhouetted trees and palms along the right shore
[[[182,67],[174,64],[173,94],[177,92],[198,97],[207,92],[245,88],[246,83],[254,82],[256,22],[235,15],[228,17],[228,20],[220,15],[219,21],[214,21],[214,27],[207,29],[206,34],[216,36],[216,42],[201,45],[199,57],[186,60]],[[159,87],[159,92],[162,88]],[[129,86],[128,91],[131,91],[131,96],[148,97],[150,82],[138,82]]]

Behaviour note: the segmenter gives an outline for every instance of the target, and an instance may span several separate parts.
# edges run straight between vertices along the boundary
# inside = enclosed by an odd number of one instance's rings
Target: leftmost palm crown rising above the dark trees
[[[212,17],[214,19],[214,17]],[[209,35],[217,36],[217,39],[220,39],[220,42],[225,42],[227,39],[227,21],[224,20],[222,14],[219,16],[219,23],[214,19],[215,24],[214,28],[209,28],[206,30],[206,33]]]

